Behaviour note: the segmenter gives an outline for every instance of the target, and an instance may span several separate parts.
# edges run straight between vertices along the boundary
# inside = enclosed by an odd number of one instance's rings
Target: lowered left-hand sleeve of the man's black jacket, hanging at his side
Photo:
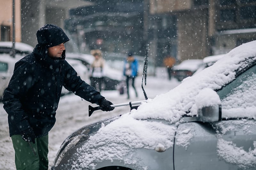
[[[20,131],[29,127],[27,113],[22,107],[20,99],[26,97],[26,93],[35,83],[31,66],[24,61],[15,64],[12,78],[4,91],[3,104],[9,120],[17,125]]]

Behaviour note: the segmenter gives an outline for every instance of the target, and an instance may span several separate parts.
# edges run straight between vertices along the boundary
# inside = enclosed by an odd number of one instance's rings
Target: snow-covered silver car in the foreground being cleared
[[[52,170],[255,170],[255,46],[236,47],[137,110],[78,129]]]

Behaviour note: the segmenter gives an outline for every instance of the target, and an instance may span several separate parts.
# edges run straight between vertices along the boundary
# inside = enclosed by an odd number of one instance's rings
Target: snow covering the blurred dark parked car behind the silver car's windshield
[[[202,59],[184,60],[179,65],[173,66],[173,70],[190,70],[194,72],[201,64],[203,64]]]

